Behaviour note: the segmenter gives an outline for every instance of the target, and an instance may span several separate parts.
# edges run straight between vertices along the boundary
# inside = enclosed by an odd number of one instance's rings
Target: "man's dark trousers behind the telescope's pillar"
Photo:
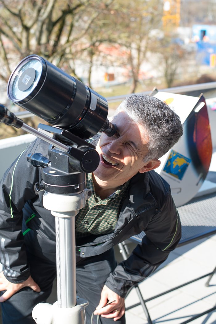
[[[7,301],[1,303],[3,324],[35,324],[31,317],[33,307],[46,302],[51,294],[53,281],[56,276],[56,264],[29,254],[30,272],[34,281],[40,286],[41,292],[36,293],[26,287],[17,292]],[[91,315],[98,306],[102,287],[109,273],[114,270],[116,261],[113,249],[105,253],[77,260],[77,295],[86,299],[89,305],[85,307],[86,323],[91,324]],[[57,300],[57,297],[56,297]],[[97,316],[93,316],[93,323],[97,323]],[[125,324],[125,316],[118,321],[99,318],[101,324]]]

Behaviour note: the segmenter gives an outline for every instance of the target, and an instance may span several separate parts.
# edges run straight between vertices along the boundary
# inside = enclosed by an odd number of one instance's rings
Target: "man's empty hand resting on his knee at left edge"
[[[5,278],[3,271],[0,272],[0,291],[6,290],[6,292],[0,297],[0,302],[4,302],[23,287],[30,287],[38,293],[41,291],[39,285],[34,282],[31,276],[20,284],[13,284]]]

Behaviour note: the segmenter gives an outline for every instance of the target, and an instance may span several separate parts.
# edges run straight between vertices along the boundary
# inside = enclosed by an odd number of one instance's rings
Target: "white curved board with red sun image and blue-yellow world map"
[[[191,200],[208,173],[212,143],[205,98],[156,92],[180,117],[183,125],[181,139],[160,158],[158,172],[171,186],[176,206]]]

